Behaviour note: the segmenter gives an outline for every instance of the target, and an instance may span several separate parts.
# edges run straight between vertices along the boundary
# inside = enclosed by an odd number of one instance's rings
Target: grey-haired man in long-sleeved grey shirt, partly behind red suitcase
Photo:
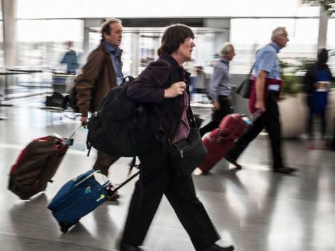
[[[209,82],[209,97],[213,102],[214,112],[211,121],[200,128],[201,136],[218,128],[223,117],[232,113],[232,102],[229,98],[232,90],[229,62],[235,56],[234,47],[231,43],[224,43],[218,54],[219,59],[214,64],[214,72]]]

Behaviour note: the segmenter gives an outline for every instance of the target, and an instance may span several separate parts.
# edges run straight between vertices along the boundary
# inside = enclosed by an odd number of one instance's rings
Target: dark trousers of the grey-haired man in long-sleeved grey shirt
[[[230,102],[228,96],[219,95],[218,102],[220,103],[220,109],[213,112],[211,122],[207,123],[206,126],[203,126],[199,129],[201,136],[207,132],[211,132],[215,128],[218,128],[218,125],[220,124],[223,117],[232,113],[232,102]]]

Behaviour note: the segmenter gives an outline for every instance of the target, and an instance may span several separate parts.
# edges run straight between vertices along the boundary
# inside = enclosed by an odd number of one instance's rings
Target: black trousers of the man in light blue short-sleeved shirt
[[[257,137],[263,128],[267,130],[271,142],[273,168],[283,167],[281,155],[281,123],[279,121],[278,104],[276,102],[276,92],[269,91],[265,107],[267,111],[262,114],[251,126],[248,126],[244,134],[228,155],[237,160],[239,155],[246,149],[246,146]]]

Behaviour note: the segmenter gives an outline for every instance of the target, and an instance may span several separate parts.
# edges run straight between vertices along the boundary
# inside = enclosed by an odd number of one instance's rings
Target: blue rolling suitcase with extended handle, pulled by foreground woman
[[[52,211],[61,231],[66,233],[80,218],[103,204],[108,197],[114,195],[119,188],[135,178],[137,174],[139,172],[114,190],[110,190],[110,181],[107,177],[101,174],[100,170],[90,170],[63,185],[47,208]]]

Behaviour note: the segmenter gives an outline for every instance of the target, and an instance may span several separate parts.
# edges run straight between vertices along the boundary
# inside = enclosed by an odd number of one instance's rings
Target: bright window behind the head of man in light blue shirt
[[[290,41],[279,57],[294,64],[300,59],[315,58],[318,47],[317,18],[234,18],[230,24],[230,41],[236,49],[231,62],[232,73],[248,73],[255,59],[255,52],[271,41],[271,31],[284,26]],[[308,27],[308,32],[306,32]]]

